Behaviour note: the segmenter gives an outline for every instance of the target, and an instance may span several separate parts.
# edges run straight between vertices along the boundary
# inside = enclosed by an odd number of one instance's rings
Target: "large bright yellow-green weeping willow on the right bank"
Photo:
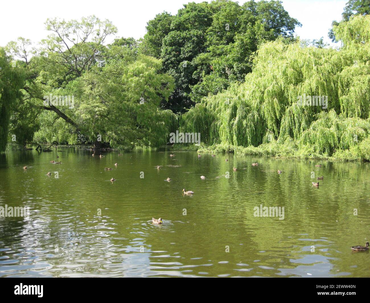
[[[181,131],[200,132],[208,145],[289,143],[307,155],[331,156],[367,141],[370,16],[352,17],[334,32],[339,50],[282,39],[262,44],[245,83],[204,98],[181,117]]]

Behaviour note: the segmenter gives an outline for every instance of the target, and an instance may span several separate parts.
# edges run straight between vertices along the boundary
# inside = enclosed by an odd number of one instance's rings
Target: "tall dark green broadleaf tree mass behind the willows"
[[[209,93],[244,81],[258,45],[279,36],[292,40],[300,25],[280,1],[193,2],[174,16],[164,12],[149,21],[140,49],[163,60],[175,80],[165,108],[183,112]]]

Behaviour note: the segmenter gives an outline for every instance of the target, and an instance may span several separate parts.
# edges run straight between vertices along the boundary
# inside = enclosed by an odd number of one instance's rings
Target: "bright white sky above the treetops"
[[[193,0],[202,2],[202,0]],[[4,1],[0,11],[0,46],[21,36],[34,43],[44,39],[48,32],[44,29],[47,18],[80,19],[95,14],[100,19],[109,19],[117,26],[117,37],[138,39],[145,34],[147,21],[157,13],[168,11],[176,14],[188,0],[18,0]],[[208,1],[209,2],[209,1]],[[240,4],[245,1],[239,1]],[[296,18],[302,27],[296,28],[301,39],[319,39],[329,43],[327,32],[333,20],[340,21],[347,0],[283,0],[283,6],[291,17]]]

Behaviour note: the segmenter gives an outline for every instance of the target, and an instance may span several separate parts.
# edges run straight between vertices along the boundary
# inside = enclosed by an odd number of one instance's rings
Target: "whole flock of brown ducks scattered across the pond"
[[[95,156],[95,153],[93,153],[91,156]],[[118,153],[118,156],[122,156],[122,154]],[[169,155],[170,157],[175,157],[175,154],[170,154]],[[100,154],[99,155],[100,158],[104,157],[104,155]],[[202,157],[201,154],[198,154],[198,158]],[[212,157],[216,157],[215,154],[212,154]],[[57,158],[59,158],[59,156],[57,156]],[[226,162],[228,162],[229,160],[228,159],[225,159]],[[53,161],[50,161],[50,163],[53,163],[53,164],[61,164],[61,162],[55,162],[54,160]],[[114,164],[115,166],[118,165],[118,163],[115,163]],[[258,166],[258,162],[256,163],[252,163],[252,166]],[[315,165],[315,167],[321,167],[322,165],[321,164],[317,164]],[[159,170],[162,166],[161,165],[158,165],[156,166],[156,168]],[[27,166],[23,166],[23,169],[27,169]],[[109,168],[109,167],[105,167],[104,170],[112,170],[112,168]],[[233,167],[233,171],[236,172],[238,169],[236,167]],[[281,174],[282,171],[281,170],[278,170],[277,171],[278,174]],[[48,172],[47,173],[48,176],[51,175],[51,172]],[[201,176],[201,179],[205,179],[206,177],[205,176]],[[323,180],[324,179],[324,176],[321,176],[321,177],[317,177],[317,180]],[[111,182],[115,181],[115,179],[112,177],[112,179],[110,179]],[[168,177],[166,179],[166,181],[170,182],[171,179]],[[312,186],[316,186],[316,187],[319,187],[319,182],[312,182]],[[194,192],[192,190],[185,190],[183,189],[182,190],[182,193],[184,195],[188,195],[188,196],[191,196],[192,194],[194,194]],[[159,219],[155,219],[155,218],[152,218],[152,223],[153,224],[162,224],[162,218],[159,218]],[[365,251],[368,251],[369,250],[369,242],[366,242],[365,243],[365,246],[351,246],[351,250],[353,251],[356,251],[356,252],[365,252]]]

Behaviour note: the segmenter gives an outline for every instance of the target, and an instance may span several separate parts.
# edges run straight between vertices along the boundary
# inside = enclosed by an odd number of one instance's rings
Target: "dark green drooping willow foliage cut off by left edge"
[[[23,70],[11,62],[0,47],[0,152],[4,152],[9,140],[9,122],[17,101],[22,99],[24,85]]]

